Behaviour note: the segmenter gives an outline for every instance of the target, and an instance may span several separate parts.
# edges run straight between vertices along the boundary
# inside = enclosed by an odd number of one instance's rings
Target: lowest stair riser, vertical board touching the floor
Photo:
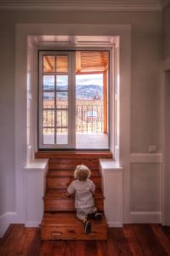
[[[105,226],[93,226],[92,234],[84,233],[83,225],[77,227],[58,226],[41,227],[42,240],[107,240],[107,228]]]

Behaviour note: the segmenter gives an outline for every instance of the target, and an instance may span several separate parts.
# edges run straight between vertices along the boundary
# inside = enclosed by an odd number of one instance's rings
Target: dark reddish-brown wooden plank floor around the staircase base
[[[167,228],[169,231],[169,228]],[[1,256],[164,256],[170,238],[158,224],[109,229],[108,241],[40,241],[40,229],[12,224],[0,240]]]

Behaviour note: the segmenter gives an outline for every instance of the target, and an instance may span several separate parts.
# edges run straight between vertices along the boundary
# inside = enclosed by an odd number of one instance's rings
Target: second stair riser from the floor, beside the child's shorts
[[[95,206],[100,212],[104,211],[103,199],[95,199]],[[45,212],[75,212],[74,200],[45,199]]]

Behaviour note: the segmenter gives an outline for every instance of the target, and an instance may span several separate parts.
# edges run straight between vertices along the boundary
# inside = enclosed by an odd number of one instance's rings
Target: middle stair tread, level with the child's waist
[[[72,200],[72,197],[69,197],[66,189],[48,189],[44,196],[45,199],[67,199]],[[101,198],[104,199],[101,189],[96,189],[94,199]]]

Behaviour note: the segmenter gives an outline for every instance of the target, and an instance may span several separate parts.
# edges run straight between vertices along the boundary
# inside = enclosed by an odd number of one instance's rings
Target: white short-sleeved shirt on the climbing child
[[[75,193],[75,208],[80,209],[94,206],[94,197],[92,195],[94,190],[95,185],[90,179],[85,181],[76,179],[67,188],[69,194]]]

